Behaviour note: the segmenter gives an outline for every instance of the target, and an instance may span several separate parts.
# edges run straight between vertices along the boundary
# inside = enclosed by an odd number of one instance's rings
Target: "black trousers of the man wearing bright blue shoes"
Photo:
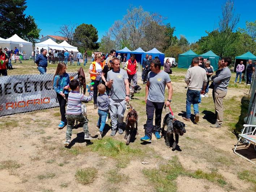
[[[147,127],[145,131],[145,135],[152,137],[152,132],[160,132],[161,129],[161,117],[162,117],[162,111],[163,111],[163,103],[157,103],[147,100],[146,104],[146,114],[147,114]],[[155,112],[155,127],[153,127],[153,118],[154,118],[154,112]]]

